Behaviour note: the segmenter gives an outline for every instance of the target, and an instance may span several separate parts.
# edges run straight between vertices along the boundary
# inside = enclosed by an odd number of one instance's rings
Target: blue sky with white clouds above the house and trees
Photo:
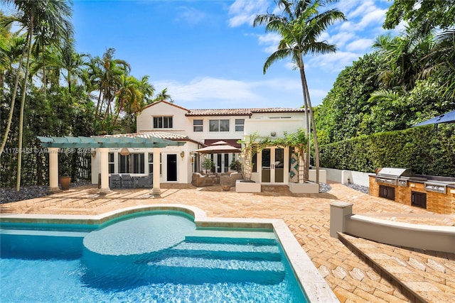
[[[378,35],[390,1],[341,0],[335,6],[348,21],[336,23],[321,40],[338,52],[306,57],[312,104],[320,104],[338,73],[365,53]],[[115,57],[132,75],[150,76],[176,104],[188,109],[299,107],[298,70],[290,60],[262,67],[279,37],[252,27],[258,13],[274,11],[273,1],[73,1],[76,50]]]

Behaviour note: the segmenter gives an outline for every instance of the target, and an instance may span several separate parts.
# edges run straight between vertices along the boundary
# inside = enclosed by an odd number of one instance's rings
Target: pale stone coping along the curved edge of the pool
[[[2,223],[36,224],[88,224],[99,225],[109,220],[143,211],[181,211],[193,216],[197,227],[271,228],[284,253],[287,255],[294,275],[304,289],[309,302],[339,302],[323,279],[319,270],[301,248],[289,227],[282,219],[210,218],[205,211],[185,204],[153,204],[131,206],[99,215],[72,214],[0,214]]]

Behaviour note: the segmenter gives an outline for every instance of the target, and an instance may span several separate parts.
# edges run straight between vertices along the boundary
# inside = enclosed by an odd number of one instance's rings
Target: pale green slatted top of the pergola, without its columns
[[[37,137],[45,148],[166,148],[168,145],[184,145],[185,142],[161,138],[139,137]]]

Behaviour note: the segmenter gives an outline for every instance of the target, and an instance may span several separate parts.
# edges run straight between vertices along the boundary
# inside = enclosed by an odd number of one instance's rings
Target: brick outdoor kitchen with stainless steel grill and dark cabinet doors
[[[409,168],[384,167],[369,179],[374,197],[436,214],[455,214],[455,177],[416,175]]]

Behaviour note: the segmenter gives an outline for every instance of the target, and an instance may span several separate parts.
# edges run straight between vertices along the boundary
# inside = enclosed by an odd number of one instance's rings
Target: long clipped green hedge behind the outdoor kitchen
[[[321,167],[360,172],[405,167],[419,175],[455,177],[455,124],[375,133],[321,145],[319,153]]]

